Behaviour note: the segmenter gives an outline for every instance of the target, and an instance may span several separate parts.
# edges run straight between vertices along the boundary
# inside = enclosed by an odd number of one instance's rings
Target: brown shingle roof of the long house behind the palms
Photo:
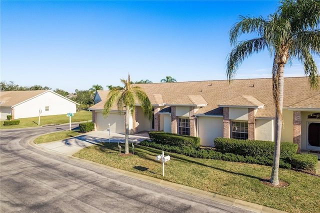
[[[251,105],[259,105],[260,103],[264,105],[263,108],[257,110],[257,117],[274,117],[271,78],[235,79],[230,83],[228,80],[145,83],[138,86],[145,91],[154,105],[159,104],[159,98],[155,101],[155,97],[161,94],[163,103],[193,105],[194,101],[204,103],[204,100],[207,105],[200,107],[197,114],[222,114],[222,108],[218,104],[244,96],[244,99]],[[300,106],[303,108],[307,101],[318,105],[313,101],[317,100],[319,94],[319,90],[310,89],[307,77],[284,78],[283,107],[294,104],[297,108]],[[199,96],[203,100],[199,100],[197,98]],[[308,98],[311,99],[307,100]],[[91,108],[102,109],[103,103],[97,103]]]

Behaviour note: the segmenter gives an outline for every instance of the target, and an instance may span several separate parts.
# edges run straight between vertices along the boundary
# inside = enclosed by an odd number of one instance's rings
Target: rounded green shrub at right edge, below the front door
[[[294,154],[291,158],[293,168],[306,169],[314,171],[318,163],[318,157],[314,154]]]

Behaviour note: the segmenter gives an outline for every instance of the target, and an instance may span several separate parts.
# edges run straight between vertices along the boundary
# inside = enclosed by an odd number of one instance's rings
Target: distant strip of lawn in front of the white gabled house
[[[73,113],[74,116],[71,117],[71,122],[88,121],[92,120],[92,112],[88,110],[79,110]],[[35,127],[38,125],[39,117],[28,117],[19,118],[20,124],[18,125],[3,125],[4,120],[0,121],[0,128],[24,128],[24,127]],[[66,114],[50,115],[50,116],[40,116],[40,125],[48,124],[61,124],[68,123],[69,117]]]

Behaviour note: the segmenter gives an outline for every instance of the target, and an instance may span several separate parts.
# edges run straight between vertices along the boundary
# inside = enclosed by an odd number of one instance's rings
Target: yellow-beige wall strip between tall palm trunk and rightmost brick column
[[[282,109],[283,126],[281,130],[282,142],[293,142],[293,111]]]

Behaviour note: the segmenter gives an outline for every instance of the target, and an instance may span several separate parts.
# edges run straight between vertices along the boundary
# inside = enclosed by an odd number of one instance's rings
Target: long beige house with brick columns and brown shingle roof
[[[136,103],[129,120],[130,132],[163,130],[198,136],[202,146],[214,146],[216,137],[274,141],[271,78],[138,86],[148,95],[154,118],[148,121]],[[110,123],[111,131],[123,133],[124,110],[118,113],[114,106],[106,119],[102,117],[106,96],[107,91],[89,108],[92,120],[98,130],[105,130]],[[320,91],[310,89],[307,77],[284,78],[283,119],[281,141],[297,143],[299,151],[320,151]]]

